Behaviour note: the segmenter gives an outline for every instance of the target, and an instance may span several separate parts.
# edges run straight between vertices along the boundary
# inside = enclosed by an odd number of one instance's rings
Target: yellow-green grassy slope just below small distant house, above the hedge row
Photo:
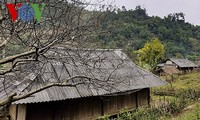
[[[175,80],[167,86],[152,89],[155,95],[174,96],[189,101],[197,101],[200,98],[199,73],[190,73],[175,77]]]

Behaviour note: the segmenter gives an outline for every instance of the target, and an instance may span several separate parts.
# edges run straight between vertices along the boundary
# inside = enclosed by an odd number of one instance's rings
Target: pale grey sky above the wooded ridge
[[[186,22],[200,25],[200,0],[105,0],[117,7],[125,6],[126,9],[135,9],[137,5],[146,8],[150,16],[163,18],[170,13],[183,12]]]

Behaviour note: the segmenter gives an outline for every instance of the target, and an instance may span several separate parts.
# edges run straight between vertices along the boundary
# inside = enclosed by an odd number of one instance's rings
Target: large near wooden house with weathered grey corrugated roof
[[[96,120],[103,115],[117,115],[123,109],[134,110],[139,106],[148,106],[150,87],[166,84],[159,77],[136,66],[121,50],[78,51],[56,48],[51,49],[49,55],[67,59],[53,59],[44,64],[31,62],[20,68],[24,70],[31,66],[35,70],[26,74],[7,74],[7,77],[0,79],[0,99],[13,92],[23,94],[40,87],[46,79],[59,82],[74,75],[99,79],[109,76],[109,79],[105,82],[74,79],[68,82],[75,84],[83,81],[83,84],[75,87],[54,86],[15,101],[9,110],[12,120]],[[89,59],[87,63],[98,68],[86,66],[82,62],[84,58],[98,58]]]

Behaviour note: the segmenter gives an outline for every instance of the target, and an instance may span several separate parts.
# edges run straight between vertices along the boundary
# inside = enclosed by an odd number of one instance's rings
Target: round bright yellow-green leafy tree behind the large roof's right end
[[[145,43],[144,47],[139,49],[136,54],[138,65],[152,71],[158,61],[164,57],[165,49],[158,38],[153,38],[150,42]]]

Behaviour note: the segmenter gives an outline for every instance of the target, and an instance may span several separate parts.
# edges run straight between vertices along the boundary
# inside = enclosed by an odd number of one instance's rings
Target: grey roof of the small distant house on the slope
[[[170,58],[172,62],[174,62],[179,67],[198,67],[194,62],[188,60],[188,59],[176,59],[176,58]]]

